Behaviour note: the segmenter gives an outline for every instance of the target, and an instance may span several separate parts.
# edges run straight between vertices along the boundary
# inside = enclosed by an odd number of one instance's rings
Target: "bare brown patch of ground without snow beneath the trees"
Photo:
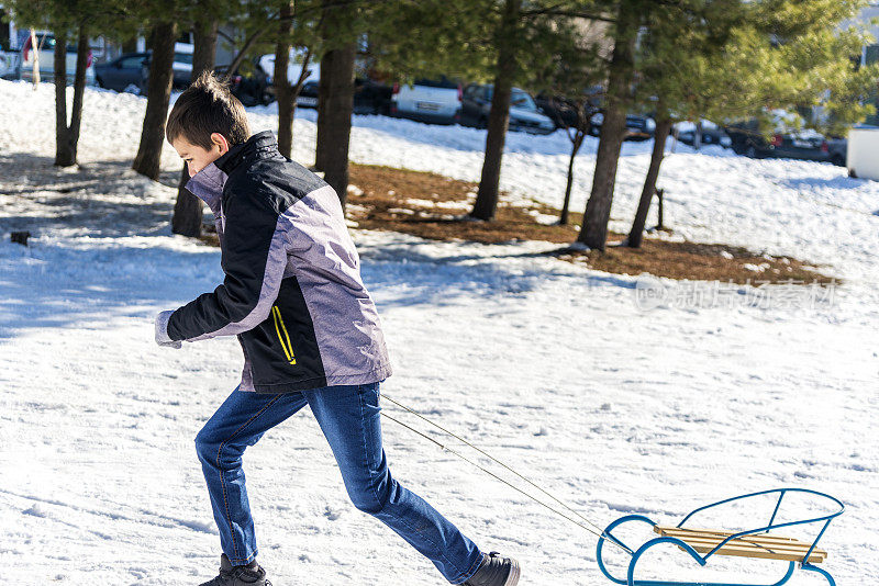
[[[567,226],[537,223],[558,217],[558,210],[534,202],[527,207],[501,204],[491,222],[469,221],[478,184],[409,169],[352,165],[348,192],[349,219],[365,229],[386,229],[434,240],[471,240],[502,244],[544,240],[570,244],[577,239],[581,213],[570,214]],[[455,204],[455,205],[452,205]],[[559,259],[617,274],[648,272],[670,279],[734,283],[828,283],[832,280],[809,263],[789,257],[769,257],[722,244],[698,244],[645,238],[641,248],[620,246],[625,238],[611,233],[604,252],[561,248]]]

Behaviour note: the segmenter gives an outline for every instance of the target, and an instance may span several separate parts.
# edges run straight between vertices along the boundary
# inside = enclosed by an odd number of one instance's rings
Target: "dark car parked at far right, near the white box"
[[[755,159],[774,157],[815,161],[832,161],[833,158],[826,138],[815,132],[780,129],[767,138],[759,131],[757,121],[733,124],[725,129],[737,155]]]

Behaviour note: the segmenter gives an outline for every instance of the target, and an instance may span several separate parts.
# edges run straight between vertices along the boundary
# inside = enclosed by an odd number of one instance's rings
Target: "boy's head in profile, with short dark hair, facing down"
[[[189,177],[251,136],[247,114],[211,71],[180,94],[168,115],[165,136],[189,168]]]

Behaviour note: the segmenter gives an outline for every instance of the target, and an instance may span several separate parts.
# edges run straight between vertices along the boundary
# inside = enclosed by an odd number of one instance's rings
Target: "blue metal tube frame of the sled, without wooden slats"
[[[824,525],[821,528],[821,531],[819,532],[819,534],[815,538],[815,540],[812,542],[812,546],[809,548],[809,551],[805,553],[805,555],[803,555],[802,561],[800,561],[800,562],[788,562],[788,571],[781,577],[781,579],[779,579],[776,583],[766,585],[766,586],[781,586],[782,584],[788,582],[790,579],[790,577],[793,575],[793,570],[794,570],[797,563],[800,564],[800,567],[802,570],[805,570],[805,571],[809,571],[809,572],[816,572],[816,573],[821,574],[822,576],[824,576],[827,579],[827,582],[830,583],[830,586],[836,586],[836,582],[834,582],[833,576],[831,576],[831,574],[828,572],[826,572],[825,570],[822,570],[822,568],[820,568],[820,567],[817,567],[815,565],[812,565],[811,563],[806,562],[806,560],[809,560],[809,556],[812,554],[812,551],[817,545],[819,540],[824,534],[824,531],[826,531],[827,526],[830,526],[831,521],[833,519],[835,519],[836,517],[838,517],[839,515],[842,515],[843,510],[845,510],[845,506],[838,499],[836,499],[836,498],[834,498],[834,497],[832,497],[832,496],[830,496],[827,494],[819,493],[816,491],[809,491],[809,489],[805,489],[805,488],[774,488],[771,491],[761,491],[759,493],[750,493],[750,494],[747,494],[747,495],[735,496],[733,498],[727,498],[725,500],[719,500],[717,503],[712,503],[711,505],[705,505],[704,507],[699,507],[698,509],[694,509],[694,510],[690,511],[683,518],[683,520],[681,520],[677,525],[677,527],[682,528],[683,523],[686,523],[693,515],[696,515],[697,512],[700,512],[702,510],[710,509],[712,507],[717,507],[720,505],[725,505],[727,503],[732,503],[733,500],[742,500],[742,499],[745,499],[745,498],[750,498],[750,497],[760,496],[760,495],[768,495],[768,494],[774,494],[774,493],[778,493],[778,503],[776,503],[776,508],[772,511],[772,516],[769,519],[769,523],[767,526],[759,527],[757,529],[749,529],[747,531],[741,531],[738,533],[734,533],[734,534],[730,536],[728,538],[724,539],[721,543],[717,544],[717,546],[715,546],[713,550],[711,550],[710,552],[708,552],[704,555],[700,555],[688,543],[686,543],[685,541],[682,541],[680,539],[674,538],[674,537],[659,537],[659,538],[656,538],[656,539],[652,539],[652,540],[647,541],[646,543],[644,543],[643,545],[641,545],[639,548],[632,549],[628,545],[626,545],[625,543],[623,543],[622,541],[620,541],[619,538],[613,536],[613,530],[616,529],[619,526],[621,526],[621,525],[623,525],[625,522],[628,522],[628,521],[645,522],[645,523],[647,523],[647,525],[649,525],[652,527],[655,527],[657,523],[654,522],[652,519],[643,516],[643,515],[626,515],[625,517],[621,517],[621,518],[616,519],[615,521],[613,521],[611,525],[609,525],[604,529],[601,538],[599,538],[599,540],[598,540],[598,549],[596,551],[596,555],[598,557],[598,566],[601,568],[601,572],[605,576],[608,576],[608,578],[610,581],[612,581],[612,582],[614,582],[616,584],[622,584],[622,585],[627,585],[627,586],[758,586],[758,585],[753,585],[753,584],[733,584],[733,583],[725,583],[725,582],[708,583],[708,582],[641,581],[641,579],[635,579],[635,566],[637,565],[638,560],[641,559],[641,556],[644,555],[644,553],[647,550],[649,550],[650,548],[653,548],[655,545],[659,545],[661,543],[672,543],[672,544],[681,548],[687,553],[689,553],[692,556],[692,559],[696,560],[697,563],[699,563],[699,565],[704,566],[708,563],[709,557],[711,557],[717,550],[723,548],[727,542],[730,542],[733,539],[741,538],[743,536],[754,536],[754,534],[758,534],[758,533],[766,533],[766,532],[769,532],[771,530],[779,529],[781,527],[792,527],[792,526],[795,526],[795,525],[809,525],[809,523],[822,523],[823,522]],[[785,522],[785,523],[775,523],[776,516],[778,515],[778,510],[781,507],[781,500],[785,498],[785,495],[787,493],[808,493],[808,494],[817,495],[817,496],[827,498],[831,502],[833,502],[835,505],[838,506],[838,510],[835,510],[835,512],[832,512],[832,514],[826,515],[824,517],[815,517],[813,519],[803,519],[803,520],[800,520],[800,521],[791,521],[791,522]],[[608,571],[608,567],[604,565],[604,560],[602,557],[602,551],[603,551],[603,546],[604,546],[604,541],[605,540],[613,541],[617,545],[621,545],[623,549],[625,549],[626,552],[628,552],[630,555],[632,555],[632,561],[628,562],[628,572],[627,572],[627,575],[626,575],[625,579],[617,578],[617,577],[611,575],[611,573]]]

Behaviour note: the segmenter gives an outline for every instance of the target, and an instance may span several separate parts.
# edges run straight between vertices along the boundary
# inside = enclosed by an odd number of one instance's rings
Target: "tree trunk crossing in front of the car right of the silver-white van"
[[[510,97],[513,89],[513,77],[516,71],[515,29],[522,0],[507,0],[504,3],[500,46],[498,47],[497,75],[491,99],[491,111],[488,114],[488,134],[486,135],[486,155],[482,159],[482,174],[479,179],[479,191],[470,217],[493,219],[498,209],[498,192],[501,180],[501,161],[503,145],[507,140],[507,128],[510,123]]]

